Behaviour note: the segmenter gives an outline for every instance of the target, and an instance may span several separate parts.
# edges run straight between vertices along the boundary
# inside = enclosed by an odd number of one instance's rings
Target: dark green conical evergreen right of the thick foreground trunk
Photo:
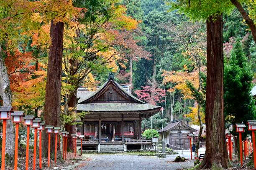
[[[233,117],[230,123],[255,120],[256,106],[251,95],[253,73],[239,39],[231,51],[230,60],[224,67],[224,112]],[[233,132],[234,133],[234,132]],[[246,132],[248,134],[248,131]]]

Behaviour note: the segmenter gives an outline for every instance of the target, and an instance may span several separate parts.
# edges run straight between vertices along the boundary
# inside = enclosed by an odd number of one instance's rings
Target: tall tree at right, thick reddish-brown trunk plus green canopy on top
[[[175,9],[192,19],[206,19],[207,26],[207,80],[206,80],[206,152],[197,169],[223,169],[230,166],[225,143],[223,101],[223,18],[230,10],[230,3],[212,0],[178,0]],[[222,148],[222,149],[220,149]]]

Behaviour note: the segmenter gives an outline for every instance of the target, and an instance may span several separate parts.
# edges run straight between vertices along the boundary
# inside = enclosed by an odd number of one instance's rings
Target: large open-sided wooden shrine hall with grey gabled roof
[[[154,106],[138,100],[114,80],[110,74],[108,81],[94,92],[86,88],[77,92],[80,97],[77,112],[88,112],[82,119],[85,143],[128,144],[142,143],[141,121],[155,115],[161,106]],[[114,141],[114,142],[113,142]],[[144,141],[145,142],[145,141]]]

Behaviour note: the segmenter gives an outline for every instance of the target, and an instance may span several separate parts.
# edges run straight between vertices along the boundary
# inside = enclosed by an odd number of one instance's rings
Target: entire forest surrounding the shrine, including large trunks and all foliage
[[[0,103],[75,133],[86,114],[76,112],[77,89],[95,90],[113,72],[140,100],[163,107],[143,120],[143,130],[151,122],[158,130],[162,120],[165,126],[182,119],[200,125],[202,133],[208,111],[212,124],[223,125],[208,136],[217,134],[220,145],[208,147],[226,147],[224,118],[233,124],[256,118],[250,93],[256,83],[255,9],[254,0],[0,0]],[[6,153],[13,158],[10,120],[7,127]],[[43,148],[47,141],[44,134]]]

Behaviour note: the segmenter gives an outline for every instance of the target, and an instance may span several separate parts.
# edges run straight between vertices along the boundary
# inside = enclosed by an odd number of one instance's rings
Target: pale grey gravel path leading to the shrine
[[[177,154],[178,155],[178,154]],[[177,155],[166,155],[166,158],[138,155],[85,154],[90,161],[80,170],[176,170],[189,168],[194,161],[173,162]]]

